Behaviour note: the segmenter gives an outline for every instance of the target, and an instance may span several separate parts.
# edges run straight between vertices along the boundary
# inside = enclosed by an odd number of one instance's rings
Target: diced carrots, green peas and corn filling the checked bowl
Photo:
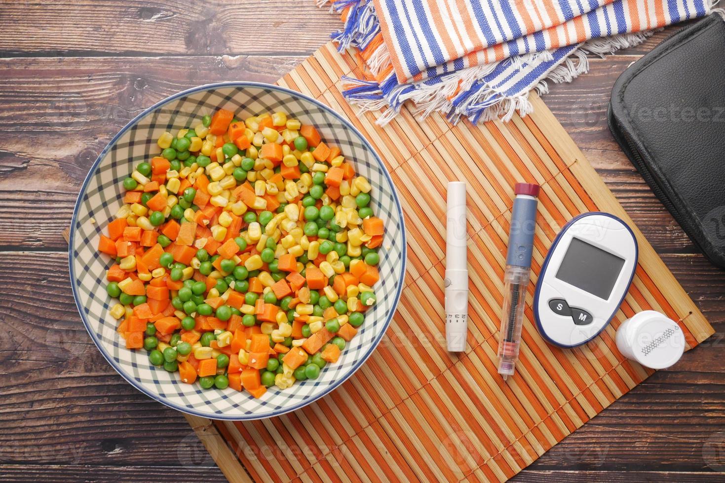
[[[384,226],[368,180],[284,112],[219,109],[157,143],[98,246],[115,258],[126,347],[256,398],[317,378],[376,303]]]

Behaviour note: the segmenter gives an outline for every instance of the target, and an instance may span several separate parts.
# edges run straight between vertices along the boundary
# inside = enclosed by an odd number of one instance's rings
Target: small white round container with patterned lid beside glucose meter
[[[646,310],[626,319],[617,329],[619,352],[650,369],[665,369],[682,357],[684,333],[677,322]]]

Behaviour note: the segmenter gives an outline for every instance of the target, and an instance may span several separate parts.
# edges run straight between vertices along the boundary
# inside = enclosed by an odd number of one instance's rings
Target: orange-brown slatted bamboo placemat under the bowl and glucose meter
[[[642,382],[653,371],[616,350],[615,329],[654,309],[680,321],[688,348],[713,329],[589,165],[547,106],[511,122],[452,127],[405,111],[386,127],[341,96],[340,77],[360,77],[354,54],[332,43],[279,84],[346,115],[375,146],[402,195],[409,269],[391,327],[376,353],[326,398],[251,422],[194,418],[192,426],[230,479],[254,481],[503,481]],[[468,182],[471,277],[468,349],[445,350],[445,190]],[[502,277],[515,182],[542,185],[526,295],[521,358],[496,374]],[[634,229],[639,266],[615,320],[592,343],[561,350],[534,327],[531,302],[553,238],[585,211],[608,211]],[[216,441],[210,445],[212,441]],[[219,438],[228,442],[220,442]]]

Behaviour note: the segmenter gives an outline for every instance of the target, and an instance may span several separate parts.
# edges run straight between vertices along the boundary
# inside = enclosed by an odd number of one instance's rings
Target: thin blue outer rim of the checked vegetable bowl
[[[101,160],[108,154],[108,152],[115,146],[117,140],[127,131],[130,129],[130,127],[133,127],[138,121],[146,117],[146,115],[153,112],[155,109],[163,106],[164,104],[169,103],[170,101],[174,101],[175,99],[178,99],[183,96],[188,96],[189,94],[193,94],[200,91],[210,91],[211,89],[217,89],[217,88],[265,88],[265,89],[271,89],[273,91],[278,91],[281,93],[288,94],[290,96],[297,96],[299,98],[305,99],[305,101],[309,101],[312,104],[315,104],[315,106],[320,107],[320,109],[323,109],[323,111],[327,112],[328,114],[333,115],[336,117],[340,122],[342,122],[347,129],[352,130],[353,133],[357,134],[357,136],[360,138],[360,140],[363,141],[363,144],[365,147],[367,147],[370,150],[370,153],[373,154],[373,157],[378,161],[379,166],[382,168],[382,172],[387,178],[388,182],[390,183],[392,187],[392,194],[393,198],[395,200],[395,206],[398,210],[398,215],[400,217],[400,231],[402,233],[402,264],[400,269],[400,276],[399,280],[397,282],[397,293],[395,294],[395,299],[393,301],[393,305],[390,308],[389,314],[387,316],[386,321],[384,322],[383,330],[380,332],[380,335],[376,337],[375,340],[373,340],[372,345],[368,349],[368,351],[357,361],[355,366],[350,369],[347,374],[344,374],[340,379],[336,380],[334,384],[327,387],[327,389],[323,392],[320,392],[320,394],[313,396],[312,398],[303,401],[302,403],[296,404],[295,406],[291,406],[290,408],[284,408],[281,411],[277,411],[275,413],[270,413],[264,416],[254,416],[254,414],[251,414],[249,416],[225,416],[223,414],[209,414],[209,413],[202,413],[199,411],[194,411],[193,408],[188,408],[186,406],[180,406],[178,404],[172,403],[170,400],[167,400],[167,398],[163,398],[162,396],[159,396],[157,394],[154,394],[153,392],[146,390],[140,383],[138,383],[135,379],[128,376],[128,374],[125,374],[125,371],[120,368],[118,364],[113,360],[113,358],[107,353],[106,350],[104,350],[103,346],[101,345],[100,341],[96,338],[96,335],[94,331],[91,329],[91,325],[88,323],[88,319],[86,319],[86,314],[83,309],[83,306],[80,303],[80,298],[78,297],[78,290],[76,289],[76,277],[75,277],[75,270],[73,269],[73,238],[75,235],[75,224],[76,219],[78,217],[78,209],[80,208],[80,203],[83,199],[84,194],[86,193],[86,189],[88,188],[88,182],[90,182],[91,178],[94,176],[96,172],[96,168],[101,164]],[[209,418],[209,419],[220,419],[220,420],[228,420],[228,421],[251,421],[254,419],[267,419],[274,416],[281,416],[283,414],[289,413],[291,411],[297,411],[299,408],[303,408],[307,406],[308,404],[311,404],[315,402],[315,400],[318,400],[322,398],[323,396],[328,395],[330,392],[334,391],[339,385],[341,385],[343,382],[347,381],[352,374],[355,374],[357,372],[357,369],[360,369],[360,367],[363,366],[365,361],[368,360],[368,358],[373,354],[373,352],[378,348],[378,344],[380,344],[380,341],[383,339],[385,332],[387,332],[388,327],[390,326],[390,322],[392,322],[393,316],[395,315],[395,311],[398,306],[398,302],[400,301],[400,295],[402,293],[403,288],[403,282],[405,282],[405,266],[407,264],[407,241],[405,240],[405,219],[403,217],[403,211],[402,211],[402,205],[400,204],[400,200],[398,198],[397,188],[395,188],[395,184],[393,182],[392,177],[390,176],[390,173],[388,172],[388,169],[385,167],[385,164],[383,164],[382,159],[380,156],[378,156],[378,153],[375,151],[373,146],[370,145],[370,142],[363,136],[363,133],[360,133],[359,130],[357,130],[357,127],[350,124],[350,122],[342,117],[340,114],[334,111],[330,106],[326,106],[325,104],[322,104],[320,101],[318,101],[315,98],[312,98],[310,96],[306,96],[303,93],[299,93],[297,91],[292,91],[291,89],[283,88],[278,85],[272,85],[272,84],[265,84],[265,83],[255,83],[255,82],[226,82],[226,83],[214,83],[214,84],[206,84],[206,85],[199,85],[198,87],[187,89],[186,91],[181,91],[179,93],[175,93],[173,96],[169,96],[162,101],[157,102],[153,106],[149,107],[148,109],[144,110],[144,112],[141,112],[141,114],[138,114],[138,116],[131,119],[130,122],[128,122],[127,125],[123,127],[120,132],[115,135],[112,140],[107,144],[105,148],[103,148],[103,151],[101,151],[101,154],[99,154],[98,158],[94,162],[93,166],[91,166],[91,169],[88,171],[88,175],[86,175],[86,179],[83,180],[83,185],[80,187],[80,193],[78,193],[78,199],[75,201],[75,207],[73,208],[73,217],[71,219],[71,225],[70,225],[70,237],[68,239],[68,266],[70,270],[70,285],[73,291],[73,298],[75,298],[75,306],[78,308],[78,313],[80,314],[80,319],[83,320],[83,325],[86,327],[86,331],[88,331],[88,335],[91,336],[91,340],[93,340],[94,344],[96,345],[96,348],[99,349],[101,354],[104,356],[106,361],[108,361],[108,364],[112,366],[113,369],[121,376],[123,379],[126,380],[130,385],[133,387],[136,387],[137,390],[143,392],[145,395],[149,396],[149,398],[152,398],[154,400],[157,400],[159,403],[164,404],[165,406],[169,406],[170,408],[174,408],[177,411],[181,411],[183,413],[191,414],[193,416],[200,416],[202,418]]]

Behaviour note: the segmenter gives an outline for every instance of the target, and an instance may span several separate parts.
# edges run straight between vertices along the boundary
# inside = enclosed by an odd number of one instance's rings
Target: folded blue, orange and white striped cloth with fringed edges
[[[324,4],[326,0],[318,3]],[[344,96],[363,110],[411,101],[426,117],[508,120],[533,109],[531,89],[587,72],[587,54],[637,45],[654,30],[713,11],[713,0],[338,0],[365,79],[345,78]]]

